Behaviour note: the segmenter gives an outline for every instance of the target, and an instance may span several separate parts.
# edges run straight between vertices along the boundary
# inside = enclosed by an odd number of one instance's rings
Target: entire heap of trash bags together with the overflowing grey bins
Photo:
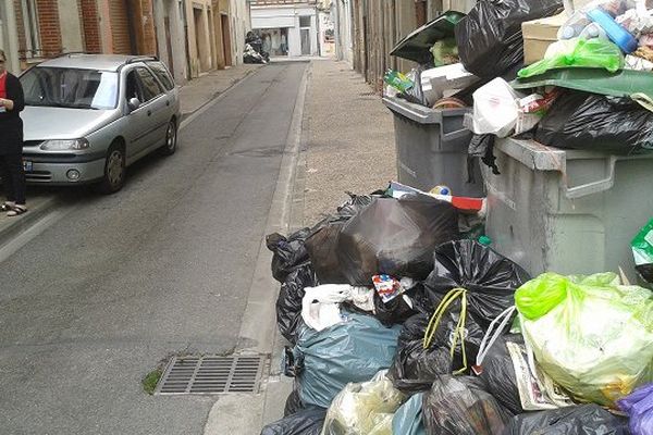
[[[399,183],[268,237],[295,387],[263,435],[653,434],[653,5],[576,3],[393,49]]]

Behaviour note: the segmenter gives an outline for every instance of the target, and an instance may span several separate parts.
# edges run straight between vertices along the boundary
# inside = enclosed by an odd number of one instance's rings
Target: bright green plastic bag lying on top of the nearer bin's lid
[[[615,44],[599,38],[558,41],[543,60],[519,70],[517,76],[532,77],[564,67],[601,67],[614,73],[624,67],[624,54]]]

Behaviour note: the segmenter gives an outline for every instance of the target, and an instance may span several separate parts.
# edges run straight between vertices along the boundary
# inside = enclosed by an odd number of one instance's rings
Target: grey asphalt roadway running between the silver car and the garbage
[[[116,195],[0,263],[0,433],[201,434],[215,398],[146,395],[175,352],[237,344],[306,63],[245,79]]]

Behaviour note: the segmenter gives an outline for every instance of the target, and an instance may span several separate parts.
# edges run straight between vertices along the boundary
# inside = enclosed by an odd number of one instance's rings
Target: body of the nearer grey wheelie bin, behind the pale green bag
[[[653,216],[653,154],[618,157],[497,139],[501,175],[483,166],[492,247],[531,275],[621,270],[637,283],[630,240]]]

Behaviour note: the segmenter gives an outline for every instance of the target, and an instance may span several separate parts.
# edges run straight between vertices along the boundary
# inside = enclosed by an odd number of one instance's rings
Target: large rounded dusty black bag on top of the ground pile
[[[458,237],[458,213],[448,202],[377,198],[343,226],[336,254],[352,285],[369,285],[380,273],[421,281],[433,268],[433,249]]]

